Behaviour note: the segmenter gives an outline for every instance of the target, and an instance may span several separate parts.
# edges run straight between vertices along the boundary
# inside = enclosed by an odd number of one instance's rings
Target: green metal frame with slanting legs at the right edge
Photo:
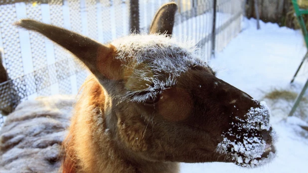
[[[304,34],[304,38],[305,38],[305,42],[306,42],[306,46],[307,46],[307,49],[308,49],[308,31],[307,31],[307,27],[305,25],[305,21],[304,21],[304,18],[303,18],[303,15],[304,14],[308,14],[308,9],[302,9],[300,8],[297,0],[292,0],[292,3],[293,3],[293,6],[294,6],[294,9],[295,9],[295,13],[296,13],[296,16],[300,22],[300,26],[301,26],[301,29],[303,31],[303,34]],[[300,71],[305,59],[308,57],[308,52],[306,53],[306,55],[304,56],[300,66],[298,67],[293,79],[291,80],[291,83],[294,81],[295,77],[297,76],[298,72]],[[289,113],[289,116],[292,116],[296,110],[296,108],[299,106],[306,90],[308,88],[308,80],[306,81],[305,85],[304,85],[304,88],[302,89],[301,93],[297,96],[297,98],[295,99],[295,102],[294,102],[294,105]]]

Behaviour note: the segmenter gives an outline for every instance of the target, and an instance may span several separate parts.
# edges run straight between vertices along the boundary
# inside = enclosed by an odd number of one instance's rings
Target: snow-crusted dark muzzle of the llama
[[[233,116],[231,128],[223,132],[223,141],[217,146],[217,152],[230,156],[236,165],[249,168],[275,158],[276,135],[269,124],[270,110],[265,102],[253,102],[257,106],[244,116]]]

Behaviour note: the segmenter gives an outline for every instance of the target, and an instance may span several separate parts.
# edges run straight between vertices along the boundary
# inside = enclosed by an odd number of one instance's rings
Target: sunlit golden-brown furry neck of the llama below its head
[[[178,164],[151,162],[121,146],[118,134],[119,120],[110,111],[112,104],[96,80],[89,80],[84,94],[75,107],[66,143],[63,173],[178,173]],[[107,123],[109,126],[107,126]]]

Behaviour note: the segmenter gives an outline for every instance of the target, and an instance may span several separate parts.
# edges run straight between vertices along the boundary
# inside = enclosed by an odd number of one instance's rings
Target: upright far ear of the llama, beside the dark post
[[[177,5],[174,2],[162,5],[156,12],[150,27],[151,33],[165,33],[172,35],[174,15]]]

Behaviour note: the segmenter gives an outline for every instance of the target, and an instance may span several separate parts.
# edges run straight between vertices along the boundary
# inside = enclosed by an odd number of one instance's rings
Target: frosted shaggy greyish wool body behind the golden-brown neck
[[[19,104],[0,130],[0,173],[58,173],[74,103],[50,96]]]

